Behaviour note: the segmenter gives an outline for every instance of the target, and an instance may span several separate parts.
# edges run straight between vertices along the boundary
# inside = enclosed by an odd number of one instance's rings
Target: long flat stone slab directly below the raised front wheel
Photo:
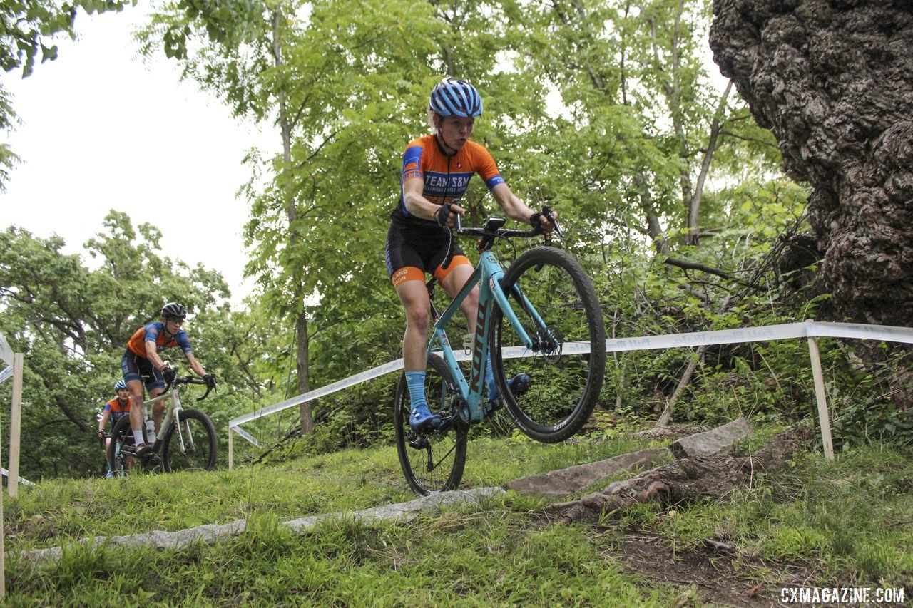
[[[557,498],[579,492],[605,477],[611,477],[635,466],[654,466],[668,452],[665,448],[645,449],[630,454],[614,456],[599,462],[569,466],[559,471],[520,477],[505,485],[521,494],[543,498]]]

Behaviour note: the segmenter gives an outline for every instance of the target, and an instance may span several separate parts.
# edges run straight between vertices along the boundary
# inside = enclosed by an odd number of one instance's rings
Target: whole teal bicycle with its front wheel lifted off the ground
[[[548,207],[543,213],[550,218]],[[489,217],[481,228],[463,228],[457,215],[456,236],[478,238],[479,260],[456,298],[438,314],[428,344],[425,393],[436,428],[416,433],[409,425],[410,401],[405,375],[394,403],[396,449],[409,487],[420,495],[456,489],[466,466],[471,425],[500,407],[526,435],[544,443],[577,433],[593,413],[605,372],[605,328],[593,283],[569,254],[551,245],[551,234],[509,230],[503,217]],[[555,231],[560,236],[557,224]],[[545,246],[530,248],[505,271],[492,254],[498,239],[543,236]],[[444,267],[451,261],[448,253]],[[429,297],[437,279],[426,283]],[[470,291],[479,286],[476,335],[469,377],[463,373],[447,339],[446,327]],[[500,397],[488,403],[485,362],[491,367]],[[509,378],[530,377],[512,393]]]

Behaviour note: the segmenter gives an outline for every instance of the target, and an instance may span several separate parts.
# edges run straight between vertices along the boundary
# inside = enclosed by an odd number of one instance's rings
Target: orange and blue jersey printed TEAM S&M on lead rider
[[[409,142],[403,154],[400,200],[391,217],[394,222],[410,225],[436,225],[432,220],[409,213],[403,201],[402,184],[421,179],[424,181],[422,195],[432,203],[445,204],[466,194],[473,173],[481,176],[488,190],[504,183],[498,173],[498,165],[483,145],[466,142],[455,155],[447,156],[441,151],[434,135]]]

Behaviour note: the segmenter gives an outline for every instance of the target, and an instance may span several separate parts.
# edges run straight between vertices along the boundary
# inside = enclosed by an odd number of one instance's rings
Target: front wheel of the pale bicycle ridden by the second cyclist
[[[172,471],[208,471],[215,466],[215,426],[200,410],[180,410],[162,437],[162,466]]]

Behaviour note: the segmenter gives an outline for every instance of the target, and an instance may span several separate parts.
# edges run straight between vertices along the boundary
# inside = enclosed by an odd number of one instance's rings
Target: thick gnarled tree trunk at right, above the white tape
[[[913,4],[714,0],[710,47],[812,186],[838,317],[913,316]]]

